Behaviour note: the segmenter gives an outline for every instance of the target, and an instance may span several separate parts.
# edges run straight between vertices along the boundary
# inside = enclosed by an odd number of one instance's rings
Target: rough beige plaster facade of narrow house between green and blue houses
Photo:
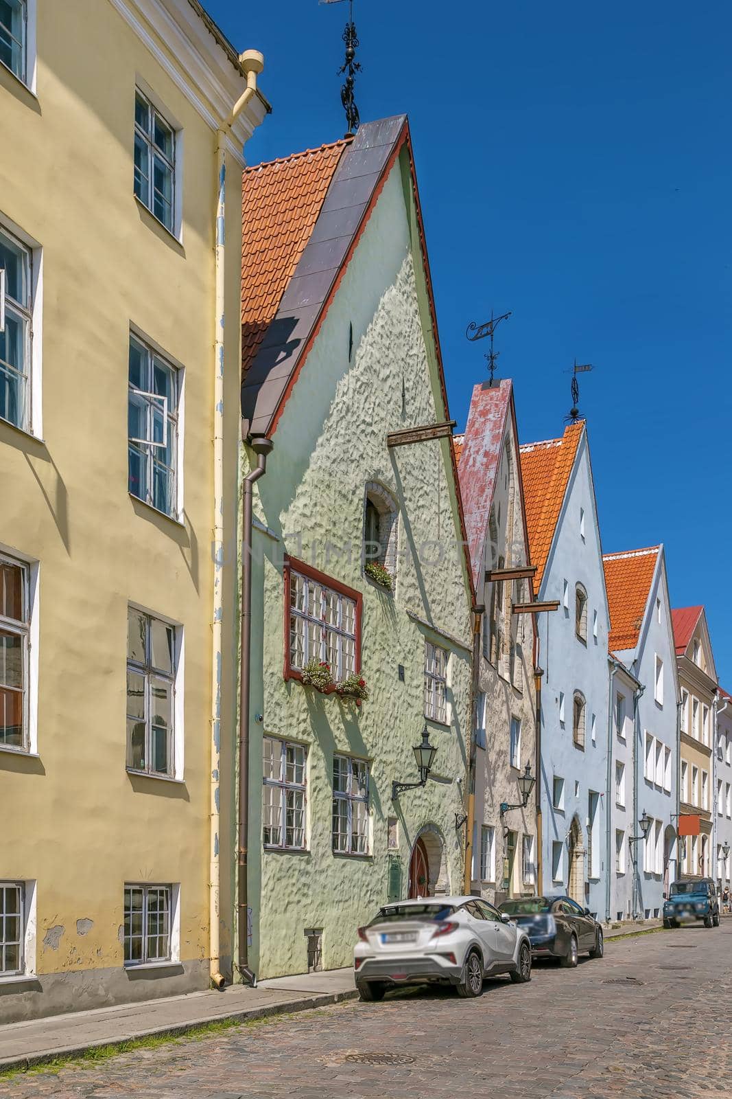
[[[507,453],[507,446],[509,453]],[[518,468],[517,440],[509,417],[500,446],[491,511],[491,515],[495,520],[495,529],[492,535],[491,524],[488,524],[484,548],[484,568],[481,570],[482,577],[485,569],[498,568],[499,558],[503,558],[506,568],[510,565],[525,565],[527,562]],[[496,664],[492,664],[488,658],[488,618],[493,588],[493,584],[484,584],[483,599],[481,600],[486,608],[478,669],[478,690],[485,695],[485,747],[476,747],[472,887],[480,889],[481,895],[491,901],[500,901],[506,895],[536,892],[536,872],[534,884],[525,884],[522,877],[525,835],[534,836],[534,861],[538,857],[536,848],[536,787],[526,809],[511,809],[503,819],[499,813],[502,802],[516,804],[521,800],[517,779],[527,763],[531,764],[531,773],[536,776],[536,690],[533,681],[533,618],[531,615],[522,614],[511,622],[510,614],[503,613],[500,623],[500,632],[513,628],[517,640],[521,643],[521,689],[518,690],[510,681],[509,665],[505,653],[500,655]],[[516,597],[528,602],[530,582],[528,580],[520,581],[520,595],[518,589],[519,585],[516,586]],[[519,718],[521,721],[520,770],[510,766],[511,717]],[[496,875],[494,880],[481,880],[481,830],[483,825],[495,829]],[[508,829],[516,832],[517,837],[514,869],[509,878],[508,889],[505,889],[504,858],[508,857],[508,845],[504,830]]]

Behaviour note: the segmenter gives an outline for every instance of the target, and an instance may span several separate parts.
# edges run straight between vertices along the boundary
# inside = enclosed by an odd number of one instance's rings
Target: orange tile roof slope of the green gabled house
[[[247,168],[243,184],[241,370],[247,373],[352,138]]]

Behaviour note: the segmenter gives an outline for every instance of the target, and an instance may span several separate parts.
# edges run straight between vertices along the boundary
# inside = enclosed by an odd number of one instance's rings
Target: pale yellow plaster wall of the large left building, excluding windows
[[[139,78],[184,129],[182,246],[133,196]],[[3,986],[0,1010],[12,1019],[110,1002],[112,988],[114,999],[138,999],[207,986],[215,135],[110,3],[41,2],[38,100],[5,70],[0,85],[2,132],[15,165],[0,169],[0,214],[44,249],[44,440],[0,423],[0,545],[41,563],[38,756],[0,752],[0,878],[37,881],[37,987]],[[230,545],[239,188],[229,162],[224,524]],[[131,322],[185,368],[181,523],[127,495]],[[228,651],[235,580],[227,565]],[[128,601],[184,628],[182,782],[125,770]],[[233,663],[223,670],[225,759],[234,671]],[[230,806],[227,781],[222,812]],[[230,865],[228,836],[221,850]],[[125,881],[180,884],[184,977],[145,984],[123,970]],[[226,877],[224,884],[226,898]],[[223,951],[230,953],[230,943]]]

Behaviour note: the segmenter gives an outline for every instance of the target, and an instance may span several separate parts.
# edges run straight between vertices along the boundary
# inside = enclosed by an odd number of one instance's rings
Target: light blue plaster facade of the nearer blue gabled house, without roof
[[[585,511],[585,541],[579,534],[579,509]],[[570,584],[570,606],[562,604],[564,580]],[[575,634],[574,597],[579,581],[587,591],[587,644]],[[559,599],[560,609],[541,615],[539,663],[544,669],[541,693],[541,808],[543,814],[544,890],[567,888],[567,839],[576,817],[582,845],[587,848],[588,795],[600,795],[597,813],[599,837],[598,875],[589,879],[586,903],[604,915],[606,909],[607,851],[607,748],[608,748],[608,626],[597,513],[589,466],[587,436],[584,435],[570,478],[567,493],[558,522],[554,542],[541,582],[541,599]],[[593,613],[597,611],[597,637],[593,636]],[[572,700],[575,690],[586,699],[584,752],[572,736]],[[565,721],[560,722],[560,691],[564,692]],[[593,743],[592,715],[596,719]],[[552,780],[564,778],[564,810],[552,808]],[[562,879],[552,879],[552,842],[564,844]],[[587,859],[584,880],[587,882]]]

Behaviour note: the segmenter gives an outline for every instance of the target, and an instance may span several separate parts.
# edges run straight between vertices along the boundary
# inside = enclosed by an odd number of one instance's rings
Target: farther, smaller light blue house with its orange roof
[[[606,554],[604,564],[610,648],[638,680],[626,689],[610,662],[610,847],[617,857],[607,918],[653,919],[676,877],[679,688],[666,562],[661,545]]]

